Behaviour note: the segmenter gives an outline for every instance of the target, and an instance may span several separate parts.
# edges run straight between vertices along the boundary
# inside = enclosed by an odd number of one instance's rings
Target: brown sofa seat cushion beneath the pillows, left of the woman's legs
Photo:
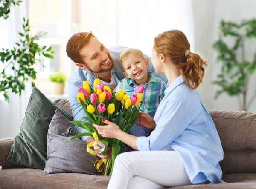
[[[44,170],[30,168],[2,169],[2,189],[106,189],[110,176],[80,173],[45,175]]]

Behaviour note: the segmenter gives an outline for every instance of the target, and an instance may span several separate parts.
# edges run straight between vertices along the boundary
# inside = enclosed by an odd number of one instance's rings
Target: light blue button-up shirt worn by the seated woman
[[[209,180],[223,183],[219,162],[223,149],[217,129],[198,90],[190,89],[179,76],[165,90],[154,116],[156,128],[149,137],[137,137],[139,150],[171,147],[180,154],[193,184]]]

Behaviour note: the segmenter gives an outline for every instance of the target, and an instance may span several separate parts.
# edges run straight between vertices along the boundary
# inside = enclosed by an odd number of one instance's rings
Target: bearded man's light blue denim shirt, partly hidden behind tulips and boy
[[[111,70],[111,74],[112,74],[112,77],[114,77],[118,81],[125,78],[125,75],[123,74],[122,66],[119,63],[120,53],[125,48],[126,47],[112,47],[112,48],[109,48],[109,52],[110,52],[111,58],[112,58],[113,63],[114,63],[114,68]],[[154,68],[153,68],[150,57],[148,57],[145,54],[144,54],[144,56],[145,56],[145,58],[149,59],[148,72],[153,72],[153,74],[156,77],[160,78],[161,80],[163,80],[164,82],[167,83],[167,78],[166,78],[165,74],[158,75],[155,72]],[[95,79],[96,79],[96,77],[94,76],[94,74],[92,72],[90,72],[89,70],[84,71],[79,67],[77,67],[74,70],[73,74],[70,76],[70,78],[68,80],[68,93],[69,93],[69,101],[70,101],[70,106],[71,106],[71,112],[72,112],[72,115],[73,115],[73,120],[87,121],[86,119],[83,118],[83,117],[86,117],[84,109],[82,108],[82,106],[77,101],[76,95],[77,95],[78,92],[77,92],[76,89],[79,86],[83,86],[83,81],[85,81],[85,80],[88,80],[91,87],[93,88],[93,81]],[[79,127],[79,126],[75,126],[75,128],[76,128],[76,131],[78,133],[88,132],[87,130],[85,130],[85,129]],[[85,140],[87,140],[88,137],[90,137],[90,136],[83,136],[83,137],[81,137],[81,140],[83,142],[85,142]]]

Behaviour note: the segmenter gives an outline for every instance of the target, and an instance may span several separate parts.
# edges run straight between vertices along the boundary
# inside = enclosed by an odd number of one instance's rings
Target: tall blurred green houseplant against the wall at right
[[[220,29],[221,36],[213,45],[213,48],[218,52],[217,60],[222,63],[221,73],[218,74],[218,79],[213,82],[220,87],[215,93],[215,99],[222,93],[236,96],[240,110],[247,111],[256,98],[255,90],[253,97],[247,101],[250,77],[256,70],[256,52],[253,60],[247,60],[245,57],[245,40],[256,38],[256,19],[242,20],[240,24],[221,20]],[[225,37],[234,39],[233,46],[224,41]]]

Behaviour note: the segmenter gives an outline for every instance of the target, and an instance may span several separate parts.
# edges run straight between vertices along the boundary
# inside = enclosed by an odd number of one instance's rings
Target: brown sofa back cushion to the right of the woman
[[[256,172],[256,113],[209,110],[224,150],[223,173]]]

